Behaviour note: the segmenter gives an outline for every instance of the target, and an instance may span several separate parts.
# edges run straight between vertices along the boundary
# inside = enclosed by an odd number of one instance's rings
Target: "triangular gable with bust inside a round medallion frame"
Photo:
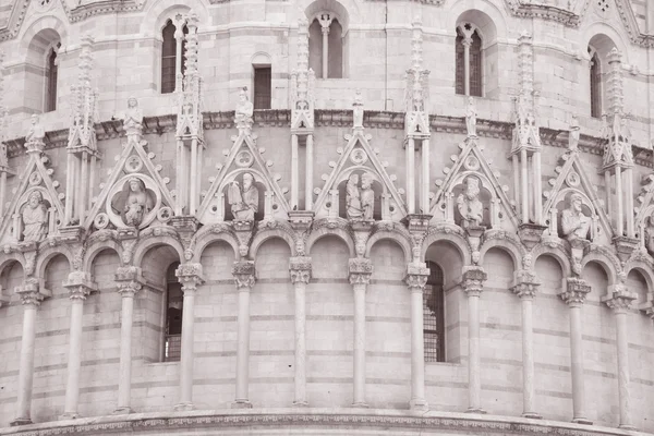
[[[159,174],[161,166],[153,162],[155,155],[147,153],[146,146],[146,141],[137,140],[123,145],[108,180],[100,184],[84,229],[144,229],[172,216],[174,199],[167,187],[169,179]]]

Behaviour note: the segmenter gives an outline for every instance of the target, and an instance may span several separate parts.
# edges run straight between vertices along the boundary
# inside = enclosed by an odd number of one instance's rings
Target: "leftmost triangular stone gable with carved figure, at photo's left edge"
[[[53,170],[46,168],[49,162],[47,155],[31,150],[28,156],[27,164],[19,175],[19,185],[2,217],[0,226],[2,244],[23,242],[27,239],[39,242],[46,237],[55,235],[57,222],[63,219],[64,209],[61,199],[64,194],[57,191],[59,182],[52,180]],[[25,208],[31,207],[28,203],[34,193],[39,194],[36,197],[40,196],[40,202],[34,205],[34,211],[25,211]],[[37,222],[41,222],[43,226],[39,227]],[[32,238],[24,234],[26,225],[32,225]],[[36,237],[37,233],[40,235]]]

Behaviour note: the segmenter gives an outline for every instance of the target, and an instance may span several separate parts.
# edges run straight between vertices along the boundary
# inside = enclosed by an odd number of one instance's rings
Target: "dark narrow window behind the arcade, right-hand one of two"
[[[445,362],[445,292],[443,269],[427,262],[429,277],[423,293],[425,362]]]

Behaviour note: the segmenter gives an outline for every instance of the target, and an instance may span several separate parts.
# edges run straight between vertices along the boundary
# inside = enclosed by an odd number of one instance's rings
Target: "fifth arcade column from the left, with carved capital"
[[[234,262],[232,275],[239,291],[239,336],[237,346],[237,398],[232,408],[252,408],[249,400],[250,377],[250,292],[254,287],[254,262]]]

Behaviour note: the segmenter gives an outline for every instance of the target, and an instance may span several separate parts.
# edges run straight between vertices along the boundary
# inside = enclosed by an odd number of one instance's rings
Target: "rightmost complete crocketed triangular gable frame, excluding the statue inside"
[[[566,202],[569,201],[570,195],[578,193],[581,194],[582,205],[588,207],[593,220],[592,241],[610,244],[613,239],[610,220],[604,210],[604,202],[597,195],[596,185],[591,182],[581,164],[580,152],[569,150],[560,157],[559,161],[562,165],[556,168],[557,177],[549,180],[552,190],[543,193],[545,206],[543,207],[542,222],[550,222],[550,229],[546,230],[546,234],[557,235],[557,230],[553,228],[552,222],[558,222],[561,207],[567,207]]]

